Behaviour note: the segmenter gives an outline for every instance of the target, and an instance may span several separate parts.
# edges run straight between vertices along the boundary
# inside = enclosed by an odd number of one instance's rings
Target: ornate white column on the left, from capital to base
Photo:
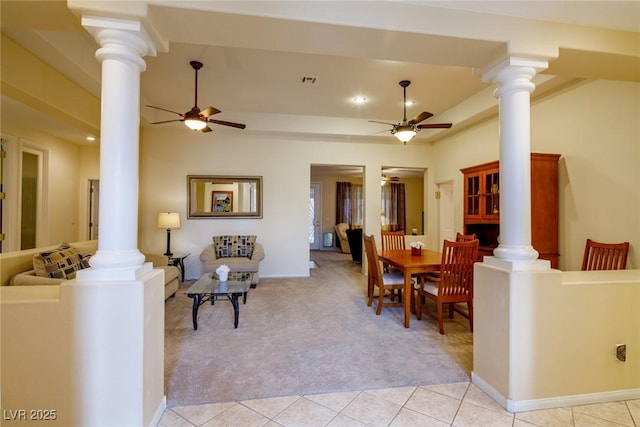
[[[138,157],[142,59],[155,47],[140,22],[83,16],[100,44],[100,239],[79,280],[133,280],[144,273],[138,243]]]

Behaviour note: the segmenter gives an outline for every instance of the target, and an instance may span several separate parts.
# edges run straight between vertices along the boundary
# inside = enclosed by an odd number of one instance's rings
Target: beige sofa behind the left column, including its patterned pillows
[[[59,285],[75,277],[75,271],[89,266],[89,258],[98,250],[97,240],[87,240],[57,246],[26,249],[0,254],[1,286],[42,286]],[[144,254],[145,261],[151,262],[153,268],[164,270],[165,300],[175,295],[180,285],[180,271],[168,265],[164,255]],[[57,257],[57,259],[56,259]],[[64,268],[52,269],[51,265],[61,258]],[[38,273],[36,273],[36,268]]]

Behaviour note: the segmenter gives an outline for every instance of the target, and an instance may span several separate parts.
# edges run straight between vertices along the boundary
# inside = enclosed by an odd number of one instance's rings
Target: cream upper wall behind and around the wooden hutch
[[[629,241],[627,268],[640,268],[640,84],[593,81],[535,103],[531,151],[560,159],[561,270],[580,269],[587,238]],[[434,146],[434,180],[454,180],[462,230],[460,168],[498,159],[498,121]]]

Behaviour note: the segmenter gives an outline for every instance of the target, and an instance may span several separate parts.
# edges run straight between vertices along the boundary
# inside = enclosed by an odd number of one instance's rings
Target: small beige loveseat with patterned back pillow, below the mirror
[[[214,273],[221,265],[229,267],[230,273],[255,273],[251,282],[255,288],[260,281],[260,261],[264,256],[264,248],[254,235],[213,236],[213,243],[202,250],[200,261],[205,273]]]

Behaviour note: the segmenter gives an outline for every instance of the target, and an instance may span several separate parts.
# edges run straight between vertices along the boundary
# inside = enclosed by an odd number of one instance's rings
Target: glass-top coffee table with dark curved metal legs
[[[251,281],[255,273],[229,273],[226,282],[218,280],[216,273],[206,273],[198,279],[189,289],[187,296],[193,298],[193,329],[198,329],[198,308],[210,301],[213,305],[220,297],[226,297],[233,305],[233,326],[238,327],[240,305],[238,298],[242,296],[242,303],[247,303],[247,293],[251,287]]]

